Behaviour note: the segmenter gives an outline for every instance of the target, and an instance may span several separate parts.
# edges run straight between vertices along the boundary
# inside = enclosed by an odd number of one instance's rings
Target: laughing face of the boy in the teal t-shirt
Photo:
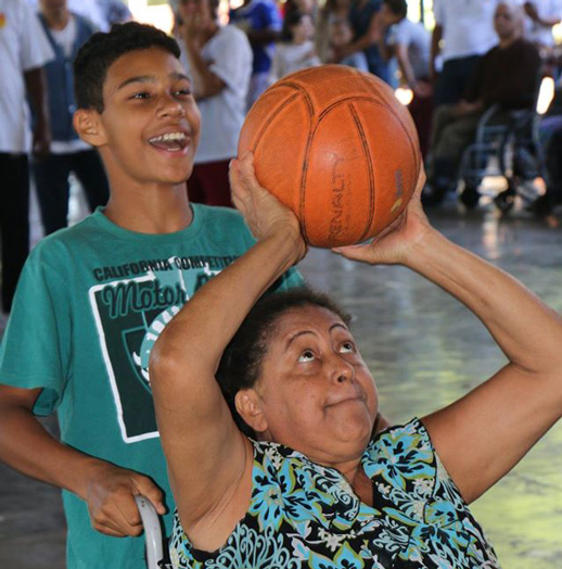
[[[193,168],[201,117],[181,63],[159,48],[131,51],[107,69],[99,150],[112,186],[178,185]],[[95,113],[95,111],[89,111]]]

